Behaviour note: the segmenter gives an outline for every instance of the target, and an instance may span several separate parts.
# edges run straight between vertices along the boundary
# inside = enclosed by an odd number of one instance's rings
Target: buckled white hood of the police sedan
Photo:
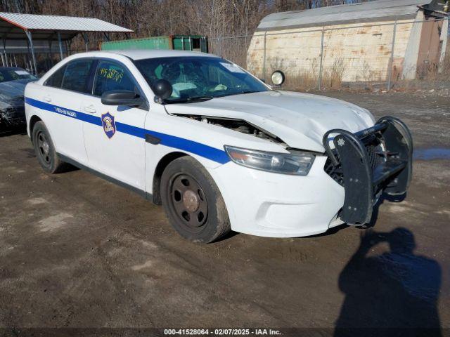
[[[243,119],[288,147],[323,152],[322,138],[332,128],[350,132],[373,126],[368,110],[351,103],[307,93],[264,91],[214,98],[206,102],[165,105],[169,114]]]

